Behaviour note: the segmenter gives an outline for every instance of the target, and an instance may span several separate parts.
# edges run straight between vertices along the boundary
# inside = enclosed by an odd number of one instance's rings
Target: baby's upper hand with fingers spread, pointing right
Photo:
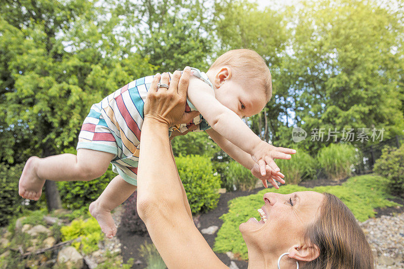
[[[284,147],[274,147],[265,141],[261,141],[254,149],[254,154],[251,154],[252,159],[260,166],[261,175],[266,175],[266,165],[274,172],[279,172],[279,167],[275,164],[274,158],[290,159],[289,154],[296,153],[296,150]]]

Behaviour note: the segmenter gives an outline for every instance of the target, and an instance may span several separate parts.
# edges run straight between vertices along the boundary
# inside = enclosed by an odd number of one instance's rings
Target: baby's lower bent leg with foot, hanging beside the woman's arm
[[[121,176],[116,176],[98,199],[88,207],[91,216],[97,220],[101,230],[108,238],[112,238],[117,233],[111,210],[128,199],[136,188],[136,186],[124,181]]]

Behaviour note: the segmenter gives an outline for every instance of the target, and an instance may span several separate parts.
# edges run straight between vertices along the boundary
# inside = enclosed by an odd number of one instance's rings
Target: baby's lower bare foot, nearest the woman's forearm
[[[108,238],[113,238],[117,233],[117,227],[112,218],[111,211],[102,208],[102,206],[99,205],[98,200],[90,203],[88,210],[90,211],[91,216],[97,220],[103,233],[105,233]]]

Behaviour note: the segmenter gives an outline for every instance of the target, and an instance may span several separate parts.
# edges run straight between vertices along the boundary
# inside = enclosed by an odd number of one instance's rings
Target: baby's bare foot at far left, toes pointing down
[[[39,200],[42,194],[42,187],[45,179],[40,179],[36,174],[36,162],[38,157],[32,156],[25,163],[20,181],[18,182],[18,194],[30,200]]]

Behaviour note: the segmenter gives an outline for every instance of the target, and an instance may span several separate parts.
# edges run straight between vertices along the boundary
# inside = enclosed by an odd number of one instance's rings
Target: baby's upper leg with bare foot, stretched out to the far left
[[[108,169],[114,154],[80,148],[77,156],[60,154],[27,160],[18,184],[18,193],[23,198],[38,200],[45,180],[87,181],[102,176]]]

